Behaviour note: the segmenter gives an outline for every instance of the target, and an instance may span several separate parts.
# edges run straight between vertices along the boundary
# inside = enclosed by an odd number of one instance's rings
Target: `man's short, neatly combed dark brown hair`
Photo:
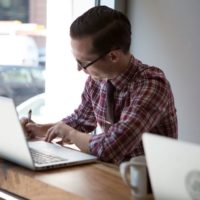
[[[127,53],[131,44],[131,24],[123,13],[107,6],[96,6],[71,24],[70,36],[73,39],[91,36],[93,53],[103,54],[112,49]]]

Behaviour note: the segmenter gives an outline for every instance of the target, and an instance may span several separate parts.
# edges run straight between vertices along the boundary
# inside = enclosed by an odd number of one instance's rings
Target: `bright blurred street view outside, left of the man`
[[[111,3],[110,1],[109,3]],[[73,112],[87,76],[77,71],[69,26],[95,0],[0,0],[0,96],[19,116],[58,121]]]

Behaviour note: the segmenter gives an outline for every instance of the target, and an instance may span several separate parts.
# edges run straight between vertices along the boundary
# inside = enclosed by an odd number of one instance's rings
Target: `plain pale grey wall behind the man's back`
[[[132,52],[171,82],[179,138],[200,143],[200,1],[129,0]]]

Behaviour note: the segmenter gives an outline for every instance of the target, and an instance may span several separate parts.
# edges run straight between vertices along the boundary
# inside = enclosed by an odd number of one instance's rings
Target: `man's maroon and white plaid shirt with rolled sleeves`
[[[102,133],[92,136],[90,152],[99,159],[120,164],[144,154],[144,132],[177,138],[177,116],[170,84],[164,73],[133,58],[128,69],[111,80],[115,86],[115,119],[106,121],[106,81],[88,77],[82,103],[63,121],[82,132],[97,124]]]

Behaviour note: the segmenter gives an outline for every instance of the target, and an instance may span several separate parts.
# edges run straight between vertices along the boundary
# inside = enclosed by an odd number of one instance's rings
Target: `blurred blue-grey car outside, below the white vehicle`
[[[19,105],[44,91],[43,68],[0,66],[0,96],[11,97]]]

